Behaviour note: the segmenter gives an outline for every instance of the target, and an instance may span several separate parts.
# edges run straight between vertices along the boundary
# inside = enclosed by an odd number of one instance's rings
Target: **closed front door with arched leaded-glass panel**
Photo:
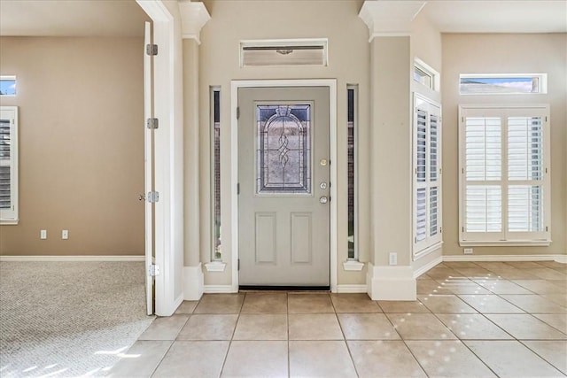
[[[238,109],[240,286],[329,287],[329,88],[241,88]]]

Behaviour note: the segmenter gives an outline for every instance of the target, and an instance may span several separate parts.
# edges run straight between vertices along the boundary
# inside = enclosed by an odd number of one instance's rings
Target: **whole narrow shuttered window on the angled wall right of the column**
[[[441,119],[439,104],[415,95],[414,258],[441,242]]]

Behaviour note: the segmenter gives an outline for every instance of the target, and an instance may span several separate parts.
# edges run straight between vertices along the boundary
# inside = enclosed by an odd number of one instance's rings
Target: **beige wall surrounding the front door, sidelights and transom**
[[[230,263],[230,81],[337,79],[338,84],[338,262],[346,260],[346,85],[359,85],[360,257],[369,260],[369,31],[358,17],[361,1],[206,1],[211,20],[199,47],[201,142],[201,261],[211,251],[210,86],[221,87],[221,204],[223,259]],[[327,67],[239,66],[238,42],[250,39],[329,38]],[[229,284],[225,273],[206,273],[206,284]],[[364,273],[338,268],[338,282],[364,283]]]

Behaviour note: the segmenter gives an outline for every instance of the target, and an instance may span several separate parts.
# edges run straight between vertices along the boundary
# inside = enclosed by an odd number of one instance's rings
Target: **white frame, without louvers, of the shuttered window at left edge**
[[[0,158],[0,166],[10,166],[10,209],[0,209],[0,225],[17,225],[18,205],[18,106],[0,106],[0,119],[10,121],[10,158]]]

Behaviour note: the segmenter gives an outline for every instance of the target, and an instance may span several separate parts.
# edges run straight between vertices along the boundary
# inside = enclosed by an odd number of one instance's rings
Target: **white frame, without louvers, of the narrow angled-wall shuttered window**
[[[417,113],[426,112],[426,132],[425,132],[425,181],[418,181],[418,137],[417,137]],[[437,179],[431,180],[431,116],[437,116]],[[414,93],[414,112],[412,121],[412,155],[413,155],[413,189],[412,189],[412,233],[413,233],[413,258],[421,258],[428,253],[435,251],[443,243],[442,223],[443,223],[443,204],[442,204],[442,119],[441,105],[430,98]],[[431,188],[437,188],[437,228],[436,234],[431,235]],[[417,238],[417,189],[425,189],[425,238]]]

